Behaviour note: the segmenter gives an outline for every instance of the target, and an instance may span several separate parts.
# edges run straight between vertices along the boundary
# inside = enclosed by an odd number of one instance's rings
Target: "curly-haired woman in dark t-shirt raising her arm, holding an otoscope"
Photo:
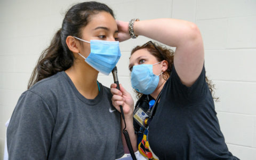
[[[176,47],[173,52],[150,41],[132,50],[131,83],[140,98],[135,109],[124,87],[119,91],[111,84],[113,105],[123,106],[140,154],[147,159],[238,159],[220,130],[197,26],[177,19],[132,19],[117,25],[120,41],[145,36]]]

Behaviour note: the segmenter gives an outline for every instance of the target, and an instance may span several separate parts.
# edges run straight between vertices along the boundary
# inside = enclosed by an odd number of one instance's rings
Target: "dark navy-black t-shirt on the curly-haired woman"
[[[148,130],[150,148],[159,159],[238,159],[220,131],[204,67],[191,87],[172,67]]]

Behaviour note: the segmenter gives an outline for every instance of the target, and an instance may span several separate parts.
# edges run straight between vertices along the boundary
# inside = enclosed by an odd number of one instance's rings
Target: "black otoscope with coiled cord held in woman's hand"
[[[119,82],[118,82],[118,77],[117,77],[117,68],[115,67],[113,70],[112,70],[112,74],[113,74],[113,77],[114,77],[114,83],[117,85],[117,89],[120,90],[120,86],[119,86]],[[121,110],[121,115],[124,119],[124,111],[123,111],[123,106],[119,106],[120,107],[120,110]],[[132,159],[133,160],[137,160],[136,157],[135,157],[135,154],[134,154],[134,151],[132,149],[132,143],[131,143],[131,140],[130,140],[130,137],[129,137],[129,134],[127,132],[126,129],[126,123],[125,123],[125,119],[124,119],[124,129],[123,129],[123,134],[124,134],[124,137],[125,137],[125,141],[126,141],[126,144],[127,144],[127,147],[130,151],[130,154],[132,156]]]

